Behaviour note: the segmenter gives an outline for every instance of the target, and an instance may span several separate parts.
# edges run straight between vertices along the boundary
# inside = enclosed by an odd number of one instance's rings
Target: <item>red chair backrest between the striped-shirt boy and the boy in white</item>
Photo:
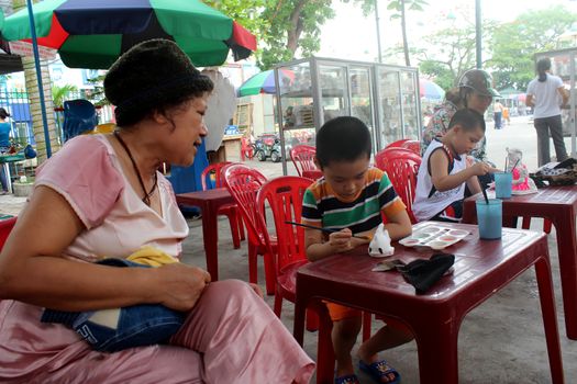
[[[375,155],[375,163],[377,168],[387,172],[395,191],[407,205],[411,223],[417,223],[412,212],[412,204],[417,188],[417,174],[421,166],[421,156],[406,148],[388,148]]]

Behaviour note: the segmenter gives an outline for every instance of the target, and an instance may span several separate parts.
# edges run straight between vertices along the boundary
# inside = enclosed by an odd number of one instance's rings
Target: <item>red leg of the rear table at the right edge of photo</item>
[[[552,217],[557,231],[563,309],[567,337],[577,340],[577,240],[575,239],[575,212],[564,210]]]

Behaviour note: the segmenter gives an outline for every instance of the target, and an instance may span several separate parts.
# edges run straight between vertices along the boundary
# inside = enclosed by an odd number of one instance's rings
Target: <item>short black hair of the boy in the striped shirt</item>
[[[332,118],[317,133],[317,159],[322,168],[332,161],[369,158],[370,142],[370,132],[360,120],[353,116]]]

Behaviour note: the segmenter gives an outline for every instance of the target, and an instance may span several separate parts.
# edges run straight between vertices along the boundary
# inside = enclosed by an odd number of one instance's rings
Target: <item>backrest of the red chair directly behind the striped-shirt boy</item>
[[[307,260],[304,249],[304,230],[302,227],[285,222],[300,223],[302,214],[302,197],[312,180],[296,176],[285,176],[266,182],[256,197],[260,223],[265,224],[265,203],[268,203],[277,235],[277,259],[275,268],[277,275],[282,269],[295,262]],[[271,250],[268,236],[265,238]]]

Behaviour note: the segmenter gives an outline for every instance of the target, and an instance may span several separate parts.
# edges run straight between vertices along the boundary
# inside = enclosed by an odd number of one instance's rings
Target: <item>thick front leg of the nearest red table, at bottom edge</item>
[[[455,315],[455,316],[458,316]],[[419,352],[421,384],[457,384],[457,339],[462,318],[431,318],[422,324],[411,324]],[[432,331],[434,329],[434,331]]]

